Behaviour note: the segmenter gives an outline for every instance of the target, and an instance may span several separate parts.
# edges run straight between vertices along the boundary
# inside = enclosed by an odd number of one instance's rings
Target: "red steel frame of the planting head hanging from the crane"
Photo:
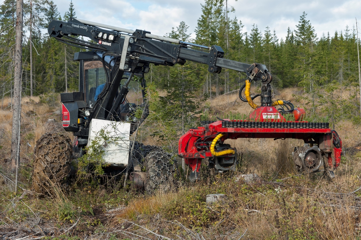
[[[299,112],[301,116],[304,110],[300,109]],[[250,119],[259,120],[252,121]],[[237,127],[225,127],[225,124]],[[332,131],[328,126],[329,123],[286,121],[276,108],[258,107],[247,120],[224,119],[224,121],[216,121],[205,127],[190,129],[179,139],[178,156],[184,158],[185,163],[191,167],[193,172],[198,172],[203,158],[214,157],[209,150],[210,141],[222,133],[222,142],[226,139],[238,138],[302,139],[305,143],[318,144],[320,148],[324,148],[329,164],[338,167],[342,148],[331,146]],[[331,153],[334,158],[331,157]]]

